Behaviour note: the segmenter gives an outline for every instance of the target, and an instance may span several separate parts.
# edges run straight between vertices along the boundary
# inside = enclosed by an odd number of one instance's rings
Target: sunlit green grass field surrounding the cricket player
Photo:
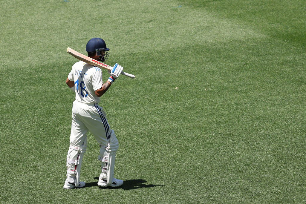
[[[303,0],[1,1],[1,203],[305,203]],[[99,188],[88,134],[81,189],[64,190],[89,39],[121,76],[102,96],[119,188]],[[103,71],[104,80],[108,73]],[[178,87],[178,89],[175,89]]]

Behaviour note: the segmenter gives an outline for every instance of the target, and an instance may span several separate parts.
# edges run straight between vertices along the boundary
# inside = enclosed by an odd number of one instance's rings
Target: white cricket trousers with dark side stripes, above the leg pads
[[[87,132],[95,137],[99,145],[107,147],[110,140],[110,125],[102,107],[95,104],[73,102],[70,146],[80,147],[87,142]]]

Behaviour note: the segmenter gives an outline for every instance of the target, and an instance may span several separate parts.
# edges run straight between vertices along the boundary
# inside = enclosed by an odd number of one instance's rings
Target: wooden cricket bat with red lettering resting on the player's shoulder
[[[108,71],[113,69],[112,66],[106,65],[102,62],[99,62],[95,59],[92,59],[91,57],[88,57],[84,54],[81,54],[81,53],[71,49],[70,47],[67,47],[67,53],[71,54],[76,59],[79,59],[80,61],[84,61],[84,62],[86,62],[90,65],[93,65],[93,66],[96,66],[96,67],[99,67],[99,68],[103,68],[103,69],[107,69]],[[128,76],[128,77],[131,77],[132,79],[135,78],[135,75],[132,75],[132,74],[129,74],[129,73],[126,73],[126,72],[121,72],[121,74],[125,75],[125,76]]]

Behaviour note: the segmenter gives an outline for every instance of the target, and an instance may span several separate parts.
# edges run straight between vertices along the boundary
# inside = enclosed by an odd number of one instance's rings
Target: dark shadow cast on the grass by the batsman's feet
[[[99,177],[95,177],[94,179],[99,180]],[[118,187],[100,187],[101,189],[117,189],[121,188],[123,190],[132,190],[137,188],[151,188],[155,186],[164,186],[164,185],[154,185],[154,184],[145,184],[147,183],[146,180],[143,179],[132,179],[132,180],[125,180],[121,186]],[[98,186],[98,181],[87,183],[85,187],[93,187]]]

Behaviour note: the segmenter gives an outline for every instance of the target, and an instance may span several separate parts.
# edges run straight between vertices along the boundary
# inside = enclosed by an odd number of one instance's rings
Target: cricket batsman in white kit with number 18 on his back
[[[86,45],[88,57],[106,62],[109,51],[101,38],[92,38]],[[70,146],[67,154],[67,179],[64,188],[80,188],[85,186],[80,181],[81,164],[87,147],[87,132],[90,131],[100,145],[101,174],[98,185],[120,186],[123,180],[114,178],[114,163],[119,144],[114,130],[106,119],[106,114],[98,105],[100,97],[109,89],[110,85],[120,76],[123,67],[117,63],[109,72],[108,80],[102,82],[100,68],[83,61],[76,62],[68,75],[66,84],[75,92],[76,97],[72,107],[72,124]]]

